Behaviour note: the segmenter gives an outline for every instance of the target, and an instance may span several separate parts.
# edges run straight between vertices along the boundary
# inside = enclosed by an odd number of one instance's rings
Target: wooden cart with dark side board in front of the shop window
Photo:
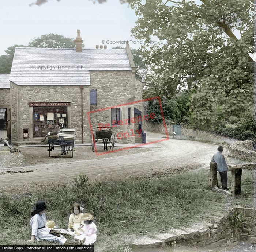
[[[60,133],[49,132],[46,136],[47,144],[49,144],[48,153],[50,157],[51,151],[61,151],[61,155],[68,154],[68,151],[72,152],[72,158],[74,155],[74,144],[75,144],[75,129],[61,129]],[[45,140],[44,139],[44,140]],[[61,149],[55,148],[60,146]]]

